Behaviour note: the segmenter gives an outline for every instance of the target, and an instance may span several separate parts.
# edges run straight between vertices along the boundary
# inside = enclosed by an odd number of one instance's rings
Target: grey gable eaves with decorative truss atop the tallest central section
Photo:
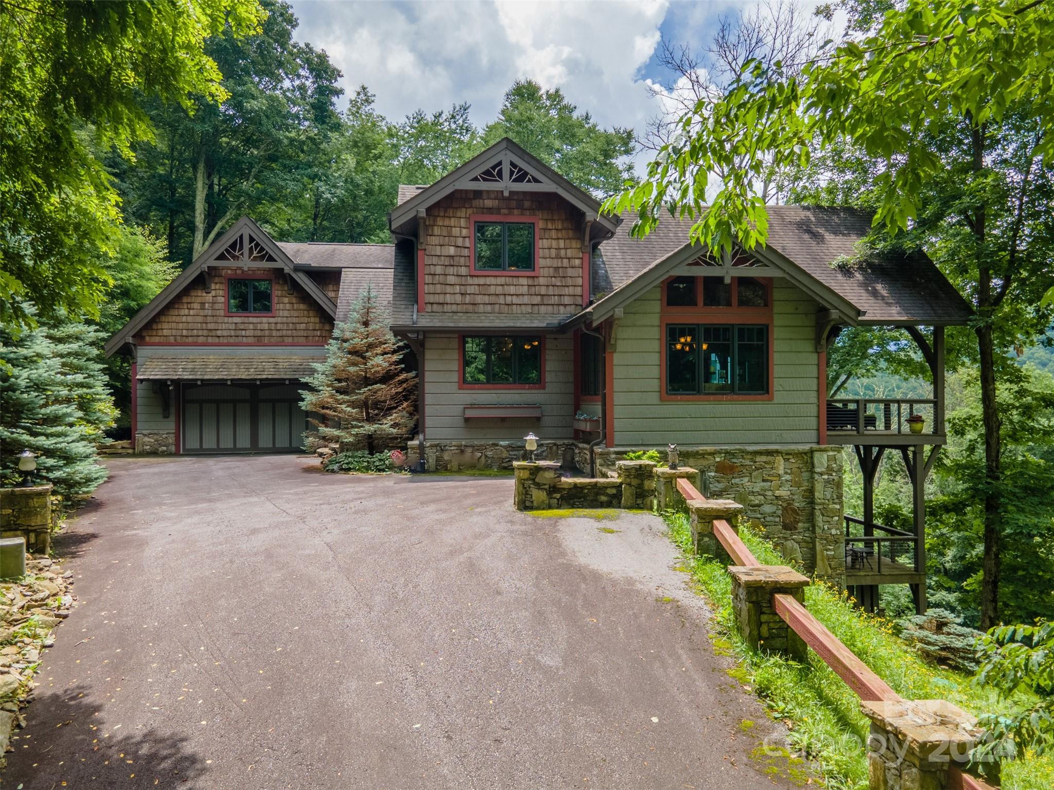
[[[504,137],[430,186],[413,191],[412,197],[389,213],[389,229],[398,235],[412,235],[417,218],[428,206],[455,190],[489,190],[505,195],[510,192],[554,193],[580,209],[586,220],[592,222],[591,240],[609,238],[622,222],[619,217],[601,215],[597,198]]]

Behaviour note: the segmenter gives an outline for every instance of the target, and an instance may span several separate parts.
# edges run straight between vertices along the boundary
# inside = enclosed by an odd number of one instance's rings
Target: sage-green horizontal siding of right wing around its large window
[[[786,280],[773,283],[770,400],[663,400],[663,354],[653,288],[626,307],[614,357],[616,447],[816,443],[819,431],[819,305]],[[707,321],[718,323],[717,318]]]

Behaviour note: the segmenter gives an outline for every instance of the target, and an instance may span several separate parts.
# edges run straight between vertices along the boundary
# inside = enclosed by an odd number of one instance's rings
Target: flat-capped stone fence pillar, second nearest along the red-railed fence
[[[806,647],[783,618],[776,613],[773,596],[784,593],[804,603],[808,579],[782,565],[750,568],[730,566],[731,607],[743,640],[752,648],[786,653],[798,661],[806,659]]]

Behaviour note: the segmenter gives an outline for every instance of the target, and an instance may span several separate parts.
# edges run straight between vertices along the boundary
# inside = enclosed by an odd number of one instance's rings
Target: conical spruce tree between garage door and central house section
[[[370,454],[386,439],[409,435],[415,419],[417,377],[404,369],[406,347],[388,329],[372,287],[359,297],[346,323],[333,330],[326,361],[305,383],[300,406],[324,438],[341,449],[365,447]]]

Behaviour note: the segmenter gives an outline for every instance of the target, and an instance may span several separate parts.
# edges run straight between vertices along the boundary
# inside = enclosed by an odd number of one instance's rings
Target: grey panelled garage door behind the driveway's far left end
[[[291,452],[308,418],[297,384],[184,384],[184,453]]]

